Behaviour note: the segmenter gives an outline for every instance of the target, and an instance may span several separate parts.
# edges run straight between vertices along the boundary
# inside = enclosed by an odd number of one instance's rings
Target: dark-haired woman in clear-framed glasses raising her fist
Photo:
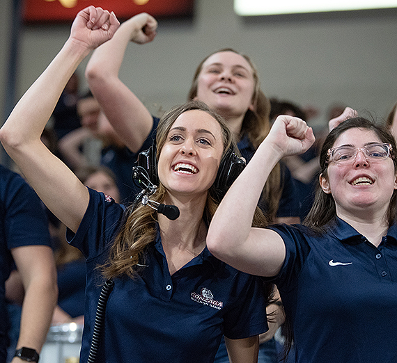
[[[251,228],[274,163],[312,142],[301,120],[277,119],[215,213],[208,248],[277,284],[297,363],[397,362],[397,152],[387,129],[364,118],[333,129],[304,225]]]

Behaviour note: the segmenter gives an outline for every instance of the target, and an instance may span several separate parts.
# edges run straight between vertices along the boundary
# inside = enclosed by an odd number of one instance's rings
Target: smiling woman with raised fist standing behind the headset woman
[[[86,67],[93,95],[132,152],[153,137],[157,119],[119,78],[119,71],[127,45],[151,42],[156,29],[156,20],[146,13],[128,19],[109,42],[95,49]],[[258,71],[248,56],[233,49],[216,51],[198,64],[187,99],[205,102],[224,117],[247,163],[270,130],[270,102],[260,89]],[[274,222],[299,223],[299,195],[283,163],[274,166],[258,205]],[[260,362],[267,363],[277,361],[272,337],[283,322],[279,303],[269,306],[268,312],[273,316],[270,331],[260,337]],[[216,362],[227,361],[222,343]]]

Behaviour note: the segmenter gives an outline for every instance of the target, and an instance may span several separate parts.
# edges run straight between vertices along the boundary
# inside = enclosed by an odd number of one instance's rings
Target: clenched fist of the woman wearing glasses
[[[302,154],[313,145],[316,138],[313,129],[304,120],[293,116],[281,115],[274,121],[272,129],[265,138],[274,150],[278,150],[281,158]]]

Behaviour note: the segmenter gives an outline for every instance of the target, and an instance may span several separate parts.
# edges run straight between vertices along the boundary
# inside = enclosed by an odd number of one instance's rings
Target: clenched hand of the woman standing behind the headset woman
[[[123,23],[123,26],[129,26],[130,24],[133,28],[130,37],[131,42],[146,44],[155,39],[157,35],[157,21],[151,15],[146,13],[135,15]]]

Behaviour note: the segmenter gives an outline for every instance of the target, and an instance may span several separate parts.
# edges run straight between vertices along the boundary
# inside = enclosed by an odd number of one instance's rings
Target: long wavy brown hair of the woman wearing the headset
[[[159,154],[162,152],[164,143],[166,143],[167,135],[173,123],[179,115],[191,110],[204,111],[217,120],[222,130],[224,154],[226,154],[230,147],[235,147],[236,152],[238,152],[233,134],[228,129],[224,119],[214,111],[211,111],[203,102],[192,101],[172,108],[159,121],[156,136],[157,160],[159,159]],[[150,199],[162,203],[164,202],[166,193],[166,188],[164,188],[160,181],[156,193],[150,196]],[[208,224],[218,206],[215,200],[215,189],[211,187],[208,190],[207,201],[203,211],[203,219]],[[259,209],[256,211],[254,220],[256,226],[264,226],[267,223],[267,219]],[[146,248],[150,243],[155,241],[157,233],[156,226],[157,211],[142,204],[139,204],[137,207],[129,207],[126,211],[125,223],[120,227],[120,232],[117,234],[113,245],[111,245],[109,262],[101,266],[104,277],[114,278],[120,275],[134,277],[137,273],[137,264],[144,263]]]

